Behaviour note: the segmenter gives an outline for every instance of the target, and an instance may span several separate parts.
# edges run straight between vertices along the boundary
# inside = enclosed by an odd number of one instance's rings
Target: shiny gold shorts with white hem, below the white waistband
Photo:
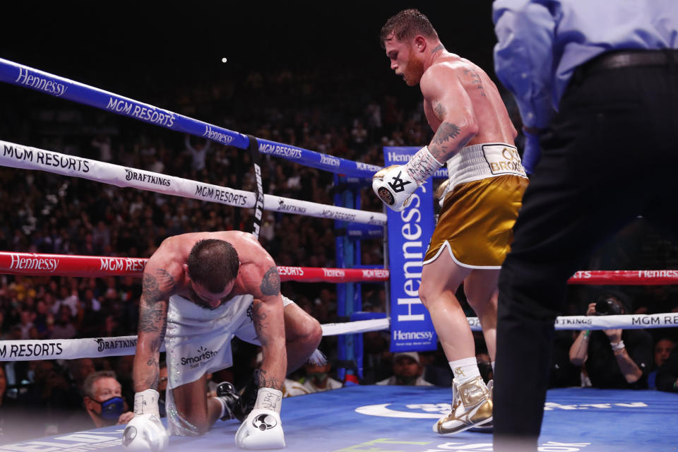
[[[527,186],[527,178],[508,174],[454,187],[445,197],[424,264],[447,248],[460,266],[501,268]]]

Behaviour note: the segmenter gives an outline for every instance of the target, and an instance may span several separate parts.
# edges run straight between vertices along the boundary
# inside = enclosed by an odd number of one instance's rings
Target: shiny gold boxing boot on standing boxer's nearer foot
[[[433,424],[433,431],[452,435],[492,421],[492,397],[482,377],[452,388],[452,411]]]

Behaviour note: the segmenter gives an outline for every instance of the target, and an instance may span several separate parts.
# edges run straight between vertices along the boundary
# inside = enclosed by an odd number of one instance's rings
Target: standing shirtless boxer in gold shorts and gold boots
[[[480,67],[448,52],[426,16],[400,11],[381,29],[381,44],[391,69],[408,85],[420,85],[435,133],[407,165],[377,172],[374,191],[389,208],[403,210],[445,162],[449,172],[419,297],[454,373],[452,411],[433,429],[454,434],[492,421],[492,397],[455,292],[464,282],[494,360],[497,278],[528,179],[513,145],[516,129],[496,86]]]

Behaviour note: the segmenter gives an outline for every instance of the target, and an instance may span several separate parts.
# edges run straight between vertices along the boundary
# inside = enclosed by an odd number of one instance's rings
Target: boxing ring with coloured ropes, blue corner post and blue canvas
[[[155,191],[167,196],[182,196],[200,201],[252,208],[261,220],[263,210],[329,218],[345,230],[337,242],[340,268],[279,267],[282,281],[323,281],[337,283],[340,315],[357,318],[359,297],[352,284],[383,282],[390,273],[380,266],[364,267],[355,260],[355,247],[348,237],[379,237],[386,215],[359,210],[359,196],[347,190],[335,197],[338,206],[263,194],[258,154],[270,154],[335,174],[338,184],[364,184],[380,169],[374,165],[351,162],[331,155],[263,140],[222,129],[196,119],[143,104],[103,90],[37,71],[0,59],[0,80],[25,88],[73,100],[108,112],[145,121],[155,126],[206,138],[224,145],[248,150],[257,176],[257,191],[251,193],[203,182],[191,181],[142,169],[97,162],[82,157],[8,143],[0,137],[0,165],[40,170],[66,177],[81,177],[103,184]],[[253,232],[258,233],[255,221]],[[358,253],[359,255],[359,253]],[[338,256],[339,257],[339,256]],[[145,259],[136,257],[73,256],[0,252],[0,273],[21,275],[133,276],[140,277]],[[571,284],[678,284],[675,270],[635,270],[616,272],[578,272]],[[357,302],[352,303],[352,300]],[[376,316],[379,317],[379,316]],[[356,359],[352,350],[362,347],[359,334],[387,330],[388,314],[345,323],[323,325],[323,335],[347,335],[340,359]],[[480,331],[477,318],[469,318],[474,331]],[[649,316],[569,316],[559,317],[560,330],[604,328],[660,328],[678,325],[678,314]],[[355,338],[355,343],[352,341]],[[13,340],[0,343],[1,360],[76,359],[133,355],[136,336],[71,340]],[[359,365],[354,369],[359,374]],[[340,373],[351,381],[352,369]],[[354,377],[355,379],[355,377]],[[431,432],[434,420],[449,410],[449,388],[403,386],[347,386],[345,388],[287,398],[283,403],[283,424],[287,449],[291,451],[490,451],[488,434],[463,432],[441,437]],[[540,436],[541,451],[637,451],[677,450],[678,434],[670,425],[678,422],[678,396],[657,391],[612,391],[590,388],[552,389],[547,394],[545,421]],[[517,414],[519,415],[519,414]],[[233,436],[237,422],[217,422],[200,437],[172,436],[169,451],[239,450]],[[92,451],[124,450],[121,426],[87,432],[60,434],[16,444],[0,444],[5,451]],[[660,430],[661,429],[661,430]]]

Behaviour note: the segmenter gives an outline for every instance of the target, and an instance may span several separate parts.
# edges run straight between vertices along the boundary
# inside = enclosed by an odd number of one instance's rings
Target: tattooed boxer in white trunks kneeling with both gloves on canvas
[[[249,406],[228,385],[220,386],[218,396],[206,396],[206,374],[232,365],[234,335],[263,349]],[[157,434],[158,360],[165,340],[170,434],[203,434],[216,420],[238,415],[244,421],[237,446],[285,447],[280,424],[285,374],[307,361],[321,336],[318,321],[280,294],[273,258],[251,234],[197,232],[165,239],[143,272],[133,370],[136,417],[124,444],[136,448],[144,438],[157,439],[148,444],[154,450],[167,444],[164,429],[164,439]]]

